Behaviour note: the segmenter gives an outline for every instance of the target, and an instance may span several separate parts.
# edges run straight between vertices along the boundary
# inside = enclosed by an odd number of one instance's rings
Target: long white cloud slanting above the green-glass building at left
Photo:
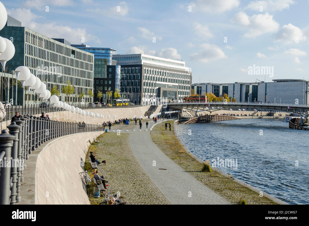
[[[40,18],[40,16],[35,15],[29,9],[12,9],[7,10],[7,12],[15,19],[21,21],[23,26],[50,38],[63,38],[71,43],[79,44],[82,37],[84,37],[84,43],[92,40],[96,43],[101,43],[97,36],[87,33],[86,28],[72,28],[57,25],[56,23],[37,23],[33,20]]]

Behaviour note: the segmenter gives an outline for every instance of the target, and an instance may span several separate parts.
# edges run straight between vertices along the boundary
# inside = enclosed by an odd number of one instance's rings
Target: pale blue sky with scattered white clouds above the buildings
[[[309,79],[307,0],[0,1],[51,38],[185,61],[192,83]]]

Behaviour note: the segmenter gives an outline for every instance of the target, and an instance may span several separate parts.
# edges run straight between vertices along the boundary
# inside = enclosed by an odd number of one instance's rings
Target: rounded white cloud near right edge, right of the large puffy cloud
[[[277,41],[283,41],[287,44],[292,42],[298,42],[306,40],[306,36],[304,36],[303,32],[298,28],[295,27],[293,24],[289,23],[284,25],[276,35]]]

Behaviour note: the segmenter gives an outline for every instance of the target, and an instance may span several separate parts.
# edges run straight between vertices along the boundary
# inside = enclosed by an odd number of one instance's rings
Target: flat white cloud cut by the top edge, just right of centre
[[[208,13],[222,13],[239,6],[239,0],[197,0],[191,2],[192,11],[202,11]]]

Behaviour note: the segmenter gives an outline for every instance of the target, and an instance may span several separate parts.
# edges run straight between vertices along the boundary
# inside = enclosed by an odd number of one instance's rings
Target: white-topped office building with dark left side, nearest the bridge
[[[192,73],[184,61],[146,54],[113,55],[121,65],[123,98],[139,104],[160,98],[183,101],[190,95]]]

